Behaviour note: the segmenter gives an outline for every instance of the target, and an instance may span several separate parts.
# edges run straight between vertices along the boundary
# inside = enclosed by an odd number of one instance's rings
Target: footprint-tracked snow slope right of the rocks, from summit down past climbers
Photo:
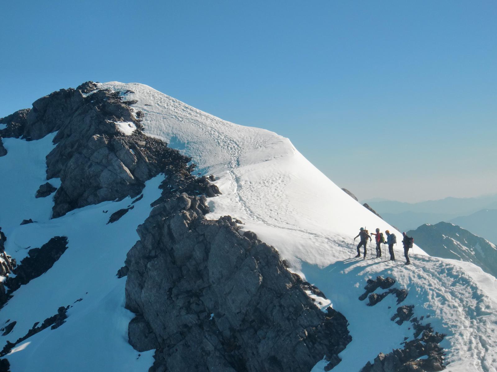
[[[203,174],[216,176],[223,194],[209,201],[212,217],[241,219],[245,229],[278,249],[293,271],[316,284],[347,317],[353,340],[334,371],[357,371],[413,335],[409,325],[390,320],[397,309],[394,299],[372,308],[357,300],[365,280],[377,275],[393,276],[410,291],[404,305],[415,305],[418,318],[430,315],[425,321],[447,334],[443,346],[449,371],[497,371],[493,276],[470,263],[429,257],[418,247],[413,265],[405,266],[400,232],[394,264],[350,259],[360,226],[395,229],[334,185],[287,138],[223,121],[146,85],[100,87],[135,92],[126,99],[138,101],[133,107],[145,114],[144,131],[191,156]]]

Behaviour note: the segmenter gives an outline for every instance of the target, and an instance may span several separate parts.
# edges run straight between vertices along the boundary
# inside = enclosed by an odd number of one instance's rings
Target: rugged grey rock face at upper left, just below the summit
[[[0,131],[4,137],[34,140],[58,131],[57,146],[47,156],[47,180],[62,181],[54,195],[54,218],[86,205],[135,197],[146,181],[161,172],[195,168],[186,166],[191,158],[141,132],[141,120],[130,107],[135,102],[122,102],[120,92],[96,88],[86,82],[76,89],[61,89],[35,101],[32,110],[20,110],[0,121],[7,124]],[[136,129],[125,135],[120,123]],[[51,190],[40,187],[38,194]],[[215,186],[207,191],[219,193]]]

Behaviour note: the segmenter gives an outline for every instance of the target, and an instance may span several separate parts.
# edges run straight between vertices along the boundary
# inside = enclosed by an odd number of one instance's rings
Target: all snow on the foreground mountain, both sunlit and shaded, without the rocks
[[[375,371],[392,371],[394,367],[388,363],[397,363],[408,354],[401,344],[406,337],[408,342],[418,340],[416,347],[427,348],[431,339],[417,335],[414,340],[410,328],[411,324],[428,327],[428,323],[435,332],[447,334],[440,345],[448,370],[496,371],[494,277],[469,263],[429,257],[417,247],[413,265],[408,267],[400,262],[350,259],[353,237],[360,226],[382,231],[393,228],[344,194],[288,139],[224,122],[141,84],[112,82],[96,88],[118,92],[134,109],[134,117],[128,118],[129,122],[116,120],[116,127],[141,124],[148,136],[164,139],[192,157],[202,174],[214,175],[222,194],[206,200],[211,210],[207,218],[215,221],[231,215],[242,220],[245,225],[238,225],[240,233],[254,231],[261,241],[274,246],[291,271],[301,273],[328,297],[328,302],[321,297],[316,303],[324,307],[331,304],[345,315],[352,341],[338,355],[341,361],[333,371],[359,371],[379,353],[399,349],[401,354],[378,357],[374,363]],[[91,99],[96,93],[92,90],[84,95]],[[150,204],[161,196],[158,186],[162,184],[165,190],[164,176],[152,175],[145,181],[143,197],[134,204],[131,197],[125,197],[76,205],[66,215],[50,219],[54,199],[35,199],[34,195],[47,181],[45,156],[54,148],[53,139],[54,134],[29,142],[3,139],[7,154],[0,157],[0,172],[8,177],[0,184],[0,191],[10,199],[0,213],[0,226],[5,226],[8,238],[6,251],[20,262],[26,248],[41,247],[54,236],[68,237],[69,248],[45,274],[19,288],[0,311],[1,321],[19,319],[2,341],[22,336],[59,306],[83,300],[67,311],[63,326],[42,330],[12,349],[7,355],[11,370],[33,371],[47,366],[47,371],[145,371],[153,364],[153,353],[138,353],[128,344],[126,335],[133,314],[124,309],[124,279],[115,278],[115,273],[135,242],[142,238],[143,244],[145,237],[139,237],[135,229],[150,215]],[[135,177],[132,170],[130,173]],[[64,182],[49,181],[58,188]],[[128,209],[130,206],[134,208]],[[126,214],[107,225],[109,215],[123,209]],[[37,223],[18,226],[26,218]],[[402,262],[401,249],[396,248],[396,255]],[[82,262],[86,263],[83,267]],[[380,275],[395,279],[390,288],[407,290],[402,304],[391,294],[374,307],[358,300],[366,279]],[[371,294],[380,296],[383,292],[378,287]],[[309,296],[316,295],[309,292]],[[398,325],[390,320],[398,314],[399,305],[408,306],[406,309],[412,311],[406,316],[417,317],[417,323]],[[212,320],[217,321],[215,311],[213,314]],[[428,355],[427,350],[420,352]],[[419,368],[422,360],[409,365]],[[322,371],[327,364],[318,363],[313,371]]]

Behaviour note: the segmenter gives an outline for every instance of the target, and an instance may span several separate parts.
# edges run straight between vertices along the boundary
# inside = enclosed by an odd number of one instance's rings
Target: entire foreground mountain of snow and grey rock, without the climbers
[[[309,360],[315,362],[305,368],[313,372],[497,371],[493,276],[417,246],[404,265],[402,234],[287,138],[223,121],[143,84],[86,84],[59,94],[68,95],[64,105],[75,102],[94,132],[74,116],[52,126],[33,119],[55,115],[47,109],[51,96],[33,104],[36,113],[0,120],[0,227],[18,264],[17,275],[4,280],[7,291],[17,289],[9,299],[0,296],[1,358],[10,371],[280,371],[287,365],[279,357],[290,355],[288,371],[302,371]],[[112,110],[105,106],[111,101]],[[84,143],[81,133],[89,136]],[[175,168],[163,172],[159,165],[168,162]],[[68,186],[80,172],[89,175],[80,178],[91,192]],[[35,197],[52,189],[55,196]],[[19,225],[28,219],[33,223]],[[394,232],[396,261],[372,257],[369,244],[366,259],[355,258],[360,227]],[[162,256],[165,247],[171,251]],[[58,259],[36,275],[27,270],[45,256]],[[224,295],[226,304],[216,303]],[[285,313],[296,303],[301,312]],[[230,328],[227,319],[243,327]],[[160,327],[171,329],[161,334]],[[204,331],[210,336],[202,338]],[[324,335],[333,339],[326,347]],[[277,337],[285,342],[269,350]],[[192,346],[181,340],[198,338],[185,368],[177,358]],[[197,352],[218,359],[199,364]],[[260,363],[250,360],[268,353]]]

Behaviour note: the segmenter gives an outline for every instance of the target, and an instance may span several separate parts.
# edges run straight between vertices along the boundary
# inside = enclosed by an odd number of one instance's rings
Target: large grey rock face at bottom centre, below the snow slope
[[[128,252],[126,308],[152,371],[310,371],[350,341],[347,320],[319,310],[276,250],[229,216],[207,220],[205,196],[156,206]],[[249,238],[250,239],[249,239]]]

